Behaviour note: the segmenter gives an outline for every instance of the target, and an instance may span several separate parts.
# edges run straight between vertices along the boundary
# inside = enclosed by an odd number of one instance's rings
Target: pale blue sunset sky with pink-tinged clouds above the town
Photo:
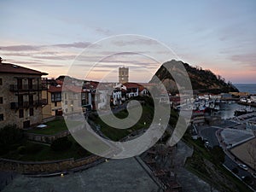
[[[110,73],[117,76],[117,68],[126,66],[131,67],[131,81],[146,82],[161,65],[145,51],[154,46],[152,38],[172,49],[172,55],[160,61],[173,57],[233,83],[256,83],[254,0],[1,0],[0,8],[0,56],[5,62],[49,73],[49,78],[70,74],[79,55],[90,48],[84,58],[87,64],[80,63],[83,68],[76,68],[77,73],[101,80]],[[114,37],[122,34],[145,37],[129,41],[129,46],[140,48],[138,54],[115,55],[113,42],[122,50],[124,41]],[[109,37],[113,41],[105,46]],[[93,46],[98,42],[104,42],[105,49]]]

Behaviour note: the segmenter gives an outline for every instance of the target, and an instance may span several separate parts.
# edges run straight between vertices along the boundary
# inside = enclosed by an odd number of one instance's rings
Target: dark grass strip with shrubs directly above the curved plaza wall
[[[10,160],[26,160],[26,161],[44,161],[44,160],[63,160],[63,159],[79,159],[85,156],[89,156],[90,152],[79,146],[73,139],[68,137],[72,141],[72,146],[65,151],[54,151],[50,146],[40,143],[26,142],[22,146],[25,147],[24,153],[19,152],[19,149],[10,151],[9,154],[2,155],[3,158]]]

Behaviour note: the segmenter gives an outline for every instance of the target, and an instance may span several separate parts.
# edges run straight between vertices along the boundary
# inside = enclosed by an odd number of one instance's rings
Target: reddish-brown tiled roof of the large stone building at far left
[[[17,66],[12,63],[0,63],[0,73],[48,75],[48,73],[42,73],[30,68]]]

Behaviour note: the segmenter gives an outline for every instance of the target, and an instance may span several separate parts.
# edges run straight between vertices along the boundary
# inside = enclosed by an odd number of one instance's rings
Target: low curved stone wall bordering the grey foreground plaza
[[[77,168],[80,166],[88,166],[96,160],[102,160],[102,157],[91,155],[86,158],[74,160],[73,158],[67,160],[54,160],[42,162],[29,162],[20,160],[6,160],[0,158],[0,170],[13,171],[24,174],[32,173],[53,173],[65,172],[67,170]]]

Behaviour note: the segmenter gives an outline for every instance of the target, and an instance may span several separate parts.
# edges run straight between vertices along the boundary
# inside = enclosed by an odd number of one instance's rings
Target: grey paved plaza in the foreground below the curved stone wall
[[[109,160],[64,177],[17,176],[3,192],[153,192],[159,187],[135,158]]]

